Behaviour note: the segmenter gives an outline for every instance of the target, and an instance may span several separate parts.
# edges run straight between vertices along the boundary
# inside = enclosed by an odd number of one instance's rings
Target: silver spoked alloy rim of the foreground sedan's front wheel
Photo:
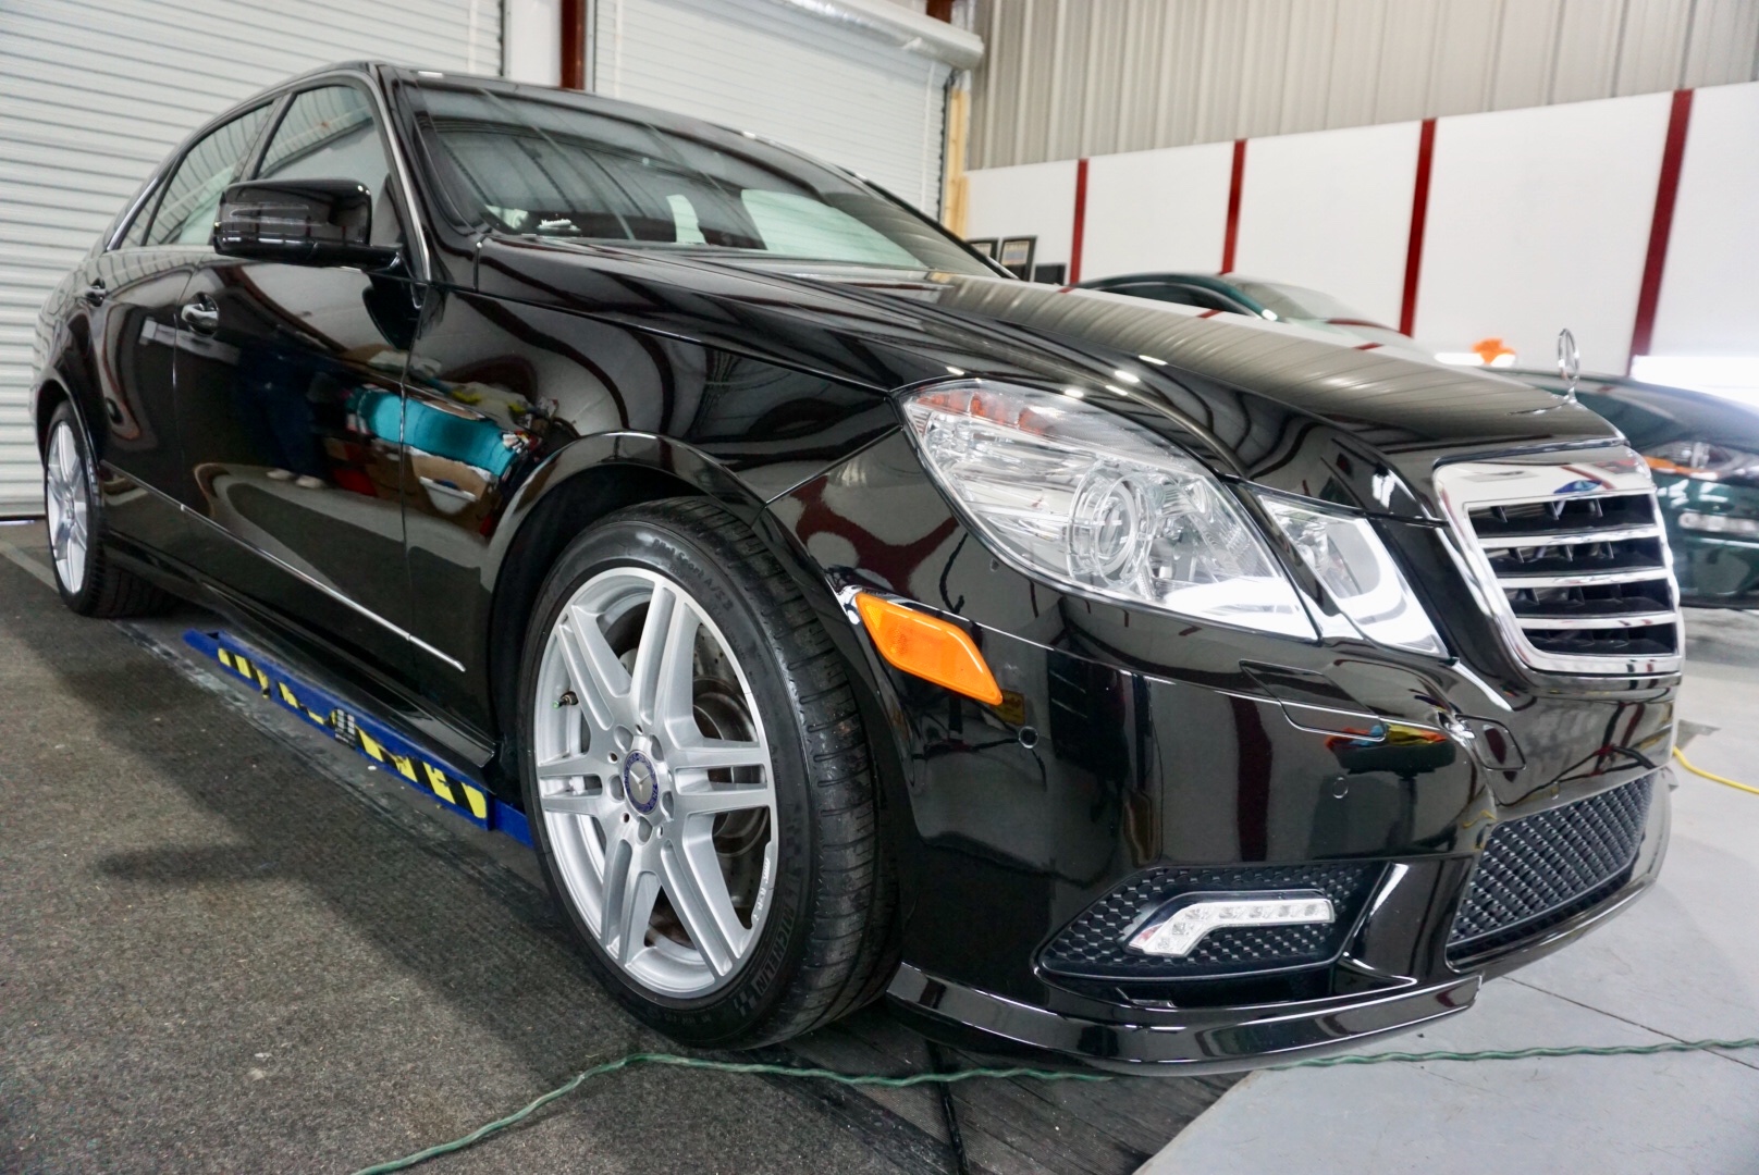
[[[568,897],[633,982],[726,985],[776,883],[776,779],[744,668],[704,607],[635,566],[584,582],[538,667],[538,804]]]

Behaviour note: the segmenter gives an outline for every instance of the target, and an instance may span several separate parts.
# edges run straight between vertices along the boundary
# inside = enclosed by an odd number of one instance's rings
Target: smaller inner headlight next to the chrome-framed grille
[[[1258,500],[1363,637],[1412,653],[1448,654],[1369,519],[1265,491]]]

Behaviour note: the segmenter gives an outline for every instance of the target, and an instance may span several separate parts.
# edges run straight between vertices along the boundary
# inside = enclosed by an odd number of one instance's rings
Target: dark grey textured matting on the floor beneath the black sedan
[[[188,654],[86,621],[0,529],[0,1171],[352,1171],[667,1050],[529,855]],[[902,1075],[869,1010],[763,1059]],[[955,1057],[957,1064],[974,1059]],[[1231,1078],[955,1087],[974,1170],[1124,1175]],[[948,1171],[939,1094],[631,1069],[433,1171]]]

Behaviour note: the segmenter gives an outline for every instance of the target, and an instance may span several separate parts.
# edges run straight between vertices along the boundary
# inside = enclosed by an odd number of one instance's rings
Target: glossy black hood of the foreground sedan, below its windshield
[[[876,394],[957,376],[1080,387],[1223,475],[1400,517],[1442,517],[1441,461],[1618,438],[1527,383],[1333,332],[1006,278],[491,239],[477,288]]]

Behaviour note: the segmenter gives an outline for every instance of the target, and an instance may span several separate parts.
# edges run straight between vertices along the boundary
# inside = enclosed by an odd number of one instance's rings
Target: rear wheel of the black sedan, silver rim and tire
[[[49,563],[67,607],[97,617],[150,616],[171,607],[169,593],[116,566],[104,551],[97,461],[79,417],[67,403],[49,415],[42,496],[49,521]]]

